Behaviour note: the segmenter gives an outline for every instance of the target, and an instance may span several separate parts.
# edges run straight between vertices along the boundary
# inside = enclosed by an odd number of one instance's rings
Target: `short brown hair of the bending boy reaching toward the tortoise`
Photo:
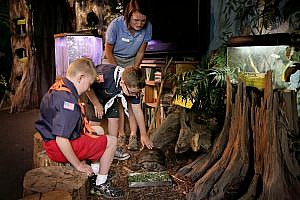
[[[142,89],[145,87],[144,73],[139,67],[126,67],[123,71],[122,79],[130,88]]]

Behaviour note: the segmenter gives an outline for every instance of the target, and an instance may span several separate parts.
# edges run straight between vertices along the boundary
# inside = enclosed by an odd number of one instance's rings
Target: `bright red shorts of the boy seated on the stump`
[[[79,160],[96,161],[101,158],[106,149],[107,137],[106,135],[100,135],[98,138],[91,138],[82,134],[79,138],[70,140],[70,143]],[[44,142],[43,146],[51,160],[55,162],[68,162],[55,140]]]

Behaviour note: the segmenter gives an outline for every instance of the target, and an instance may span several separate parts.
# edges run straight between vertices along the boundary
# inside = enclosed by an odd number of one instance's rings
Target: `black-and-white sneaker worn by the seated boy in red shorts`
[[[106,198],[120,198],[124,196],[124,192],[121,189],[111,186],[108,181],[101,185],[92,185],[90,194]]]

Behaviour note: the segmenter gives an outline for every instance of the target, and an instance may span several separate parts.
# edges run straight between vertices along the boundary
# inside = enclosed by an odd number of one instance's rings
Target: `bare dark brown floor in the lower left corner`
[[[0,112],[0,200],[22,197],[22,182],[32,168],[34,122],[38,110],[10,114]]]

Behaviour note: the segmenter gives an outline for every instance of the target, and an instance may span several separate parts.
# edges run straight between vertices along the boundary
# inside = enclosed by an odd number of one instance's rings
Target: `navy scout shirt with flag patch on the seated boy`
[[[71,81],[66,78],[63,81],[72,93],[52,90],[44,95],[40,105],[40,117],[35,128],[45,141],[54,140],[56,136],[70,140],[80,136],[82,119],[79,95]]]

